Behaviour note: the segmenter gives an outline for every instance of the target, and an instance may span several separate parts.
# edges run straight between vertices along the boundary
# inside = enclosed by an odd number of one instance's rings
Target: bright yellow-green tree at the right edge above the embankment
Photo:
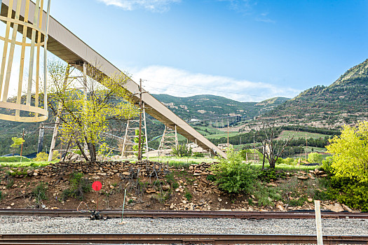
[[[337,177],[368,181],[368,122],[357,127],[343,126],[340,136],[329,140],[326,146],[333,154],[332,171]]]

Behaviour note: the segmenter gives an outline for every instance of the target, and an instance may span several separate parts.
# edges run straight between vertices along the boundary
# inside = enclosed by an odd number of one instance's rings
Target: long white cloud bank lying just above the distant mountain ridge
[[[269,83],[237,80],[225,76],[190,73],[168,66],[148,66],[132,72],[133,80],[144,80],[143,87],[152,94],[171,94],[189,97],[196,94],[214,94],[240,102],[260,102],[271,97],[292,98],[300,90]]]

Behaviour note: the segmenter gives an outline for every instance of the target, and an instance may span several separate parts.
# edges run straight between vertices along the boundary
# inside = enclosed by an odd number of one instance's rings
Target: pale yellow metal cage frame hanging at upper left
[[[47,13],[43,12],[44,2],[47,1]],[[3,1],[4,2],[4,1]],[[41,122],[47,120],[47,92],[46,92],[46,69],[43,69],[43,104],[39,105],[39,75],[40,75],[40,56],[41,47],[45,50],[43,66],[46,66],[46,49],[48,40],[48,19],[50,10],[50,0],[36,0],[36,3],[30,0],[9,0],[11,8],[4,8],[1,4],[0,20],[6,23],[6,31],[0,39],[4,41],[3,55],[0,68],[0,107],[14,111],[12,114],[0,113],[0,119],[11,120],[15,122]],[[30,8],[32,6],[33,8]],[[33,13],[33,18],[32,18]],[[44,16],[45,15],[45,16]],[[23,20],[22,20],[23,18]],[[32,18],[33,23],[29,22]],[[13,28],[11,38],[10,32]],[[29,31],[30,30],[30,31]],[[22,41],[16,41],[18,32],[22,34]],[[30,36],[29,36],[30,35]],[[27,37],[30,42],[27,43]],[[8,45],[10,44],[10,47]],[[20,69],[18,76],[18,92],[15,103],[8,102],[9,83],[11,82],[11,70],[13,66],[14,52],[16,45],[20,47]],[[26,49],[29,49],[29,69],[27,78],[27,93],[25,102],[22,102],[22,83],[25,69]],[[36,52],[36,54],[35,54]],[[35,57],[36,56],[36,57]],[[34,59],[36,59],[36,69],[34,70]],[[34,105],[32,105],[32,83],[35,73],[35,94]],[[22,116],[20,111],[26,111],[28,116]],[[40,116],[41,115],[41,116]]]

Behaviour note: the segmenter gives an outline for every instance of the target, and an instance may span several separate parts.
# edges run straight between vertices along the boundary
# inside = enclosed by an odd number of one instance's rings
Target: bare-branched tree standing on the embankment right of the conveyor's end
[[[294,139],[293,134],[291,137],[287,137],[285,141],[276,140],[281,131],[281,127],[275,126],[275,121],[272,123],[264,121],[261,123],[261,126],[257,128],[256,137],[257,141],[262,144],[264,160],[267,158],[270,167],[273,169],[275,168],[276,161],[285,151],[285,147]],[[264,169],[264,162],[262,169]]]

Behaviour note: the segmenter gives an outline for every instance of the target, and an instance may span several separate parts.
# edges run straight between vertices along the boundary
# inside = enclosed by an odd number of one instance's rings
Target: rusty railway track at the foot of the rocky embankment
[[[121,218],[121,210],[100,210],[109,218]],[[87,217],[89,212],[72,209],[0,209],[0,216],[53,216]],[[368,218],[368,213],[324,212],[322,218]],[[126,210],[124,218],[315,218],[314,211],[257,212],[257,211],[165,211],[165,210]]]

